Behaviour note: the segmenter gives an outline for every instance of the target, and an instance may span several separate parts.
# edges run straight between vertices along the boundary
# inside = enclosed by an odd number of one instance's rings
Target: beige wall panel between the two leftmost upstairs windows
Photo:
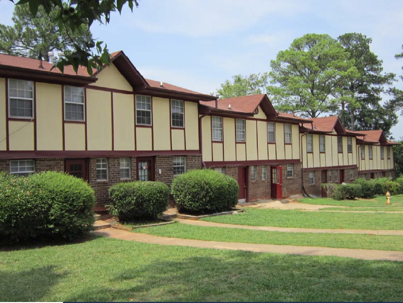
[[[62,85],[36,83],[36,149],[63,150]],[[64,106],[64,105],[63,105]]]

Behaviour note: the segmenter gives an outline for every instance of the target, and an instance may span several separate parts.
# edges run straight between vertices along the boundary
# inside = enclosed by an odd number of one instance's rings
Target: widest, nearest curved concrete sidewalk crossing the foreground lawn
[[[364,260],[387,260],[403,262],[403,252],[379,251],[379,250],[360,250],[346,248],[327,248],[313,246],[291,246],[291,245],[272,245],[272,244],[250,244],[235,242],[217,242],[217,241],[201,241],[180,238],[168,238],[161,236],[151,236],[147,234],[139,234],[107,228],[94,232],[100,236],[107,236],[115,239],[129,240],[150,244],[160,245],[176,245],[197,248],[210,248],[221,250],[240,250],[256,253],[290,253],[300,255],[316,255],[316,256],[338,256]]]

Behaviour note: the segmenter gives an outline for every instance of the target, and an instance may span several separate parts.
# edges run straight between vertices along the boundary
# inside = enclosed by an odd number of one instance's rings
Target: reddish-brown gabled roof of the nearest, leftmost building
[[[157,96],[169,95],[169,97],[192,101],[210,101],[217,99],[214,96],[201,94],[183,87],[168,83],[164,83],[163,86],[160,86],[160,82],[158,81],[144,79],[122,50],[111,53],[111,64],[115,65],[118,71],[139,93],[150,93],[151,91],[153,95]],[[52,67],[53,64],[47,61],[0,54],[0,77],[32,77],[37,79],[37,81],[55,84],[85,85],[96,82],[96,75],[103,70],[93,68],[93,75],[90,76],[86,67],[79,67],[77,73],[71,66],[64,67],[64,73],[58,68],[51,70]]]

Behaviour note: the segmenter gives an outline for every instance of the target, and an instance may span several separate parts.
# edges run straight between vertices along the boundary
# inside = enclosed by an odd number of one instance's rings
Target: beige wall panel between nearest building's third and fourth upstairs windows
[[[156,151],[168,151],[171,149],[169,106],[169,99],[152,98],[152,127],[154,128],[154,150]]]

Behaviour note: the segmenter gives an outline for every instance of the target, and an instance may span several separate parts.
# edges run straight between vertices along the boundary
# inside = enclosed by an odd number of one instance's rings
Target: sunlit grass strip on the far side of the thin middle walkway
[[[332,213],[301,210],[247,208],[244,213],[201,219],[203,221],[251,226],[322,229],[403,230],[402,214]]]

